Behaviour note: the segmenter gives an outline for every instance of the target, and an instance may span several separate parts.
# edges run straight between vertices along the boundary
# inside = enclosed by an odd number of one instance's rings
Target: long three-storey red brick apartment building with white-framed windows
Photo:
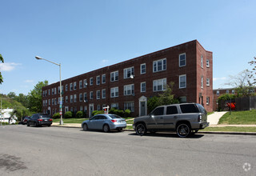
[[[147,100],[174,82],[175,98],[198,102],[213,111],[213,54],[197,41],[106,66],[62,80],[62,110],[83,110],[87,117],[103,106],[148,114]],[[59,111],[59,82],[42,87],[42,111]]]

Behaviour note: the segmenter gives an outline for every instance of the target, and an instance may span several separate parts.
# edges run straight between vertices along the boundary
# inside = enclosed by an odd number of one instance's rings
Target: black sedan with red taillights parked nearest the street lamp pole
[[[31,118],[27,121],[27,126],[50,126],[53,119],[50,118],[48,114],[33,114]]]

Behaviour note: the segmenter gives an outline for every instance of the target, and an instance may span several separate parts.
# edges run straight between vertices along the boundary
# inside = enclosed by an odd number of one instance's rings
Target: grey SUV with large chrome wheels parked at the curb
[[[147,131],[176,131],[181,138],[195,134],[207,126],[207,112],[198,103],[158,106],[149,115],[134,118],[133,124],[138,135],[146,134]]]

